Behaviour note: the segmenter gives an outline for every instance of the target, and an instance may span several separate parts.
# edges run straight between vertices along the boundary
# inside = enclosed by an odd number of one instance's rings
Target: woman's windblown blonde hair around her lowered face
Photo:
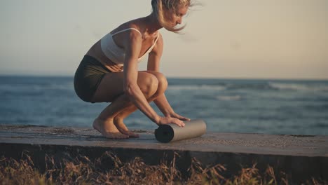
[[[173,11],[177,13],[178,9],[182,6],[191,7],[191,0],[151,0],[151,7],[153,8],[153,13],[155,13],[156,18],[160,25],[171,32],[178,33],[184,29],[185,25],[182,27],[172,27],[170,22],[165,19],[165,11]]]

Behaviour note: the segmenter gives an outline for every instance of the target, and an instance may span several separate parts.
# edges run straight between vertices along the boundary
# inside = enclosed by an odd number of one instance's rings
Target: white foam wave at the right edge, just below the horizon
[[[280,90],[328,91],[328,85],[301,83],[269,83],[272,88]]]

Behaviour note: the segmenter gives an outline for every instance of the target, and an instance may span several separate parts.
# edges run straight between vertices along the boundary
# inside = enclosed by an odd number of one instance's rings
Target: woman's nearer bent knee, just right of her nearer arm
[[[157,92],[158,78],[153,74],[142,74],[138,77],[138,85],[146,97],[151,97]]]

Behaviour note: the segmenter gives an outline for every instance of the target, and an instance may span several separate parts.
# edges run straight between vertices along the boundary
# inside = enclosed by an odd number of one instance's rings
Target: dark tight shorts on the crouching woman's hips
[[[85,102],[92,102],[93,95],[100,85],[102,78],[108,73],[111,73],[111,71],[104,67],[97,59],[89,55],[84,55],[74,76],[76,95]]]

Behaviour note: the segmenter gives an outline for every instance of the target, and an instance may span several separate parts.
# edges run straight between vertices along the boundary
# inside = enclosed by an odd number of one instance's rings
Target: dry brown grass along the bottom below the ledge
[[[188,177],[177,170],[175,158],[171,163],[146,165],[140,158],[122,163],[112,153],[104,153],[94,161],[86,156],[55,163],[46,156],[46,170],[39,172],[29,156],[24,160],[0,159],[0,184],[288,184],[287,178],[276,179],[272,167],[260,174],[256,165],[241,168],[227,179],[223,165],[203,168],[193,160]],[[306,184],[327,184],[310,179]]]

